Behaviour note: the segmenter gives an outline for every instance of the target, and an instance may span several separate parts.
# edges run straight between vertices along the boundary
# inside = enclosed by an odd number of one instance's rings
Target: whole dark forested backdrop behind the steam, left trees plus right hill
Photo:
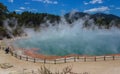
[[[71,13],[67,13],[64,15],[66,21],[68,23],[72,23],[79,18],[83,18],[85,16],[89,16],[90,19],[94,20],[94,23],[99,28],[103,27],[105,29],[109,29],[112,26],[120,28],[120,17],[112,15],[112,14],[88,14],[83,12],[75,12],[72,16]],[[8,26],[12,29],[12,31],[5,27],[5,20],[8,19]],[[89,19],[88,19],[89,20]],[[83,24],[85,27],[89,27],[89,22],[85,21]],[[60,16],[52,15],[48,13],[33,13],[33,12],[22,12],[21,14],[14,12],[9,12],[7,7],[0,3],[0,39],[3,37],[11,37],[9,34],[13,36],[21,35],[23,33],[22,28],[34,28],[38,30],[42,23],[49,21],[52,25],[56,25],[55,23],[59,23]],[[16,26],[17,25],[17,26]],[[46,27],[47,24],[44,24]]]

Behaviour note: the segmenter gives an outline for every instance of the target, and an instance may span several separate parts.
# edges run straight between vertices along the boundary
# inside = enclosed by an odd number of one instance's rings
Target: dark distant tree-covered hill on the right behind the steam
[[[95,21],[95,24],[99,27],[105,26],[106,29],[109,29],[110,27],[115,26],[120,28],[120,17],[113,14],[88,14],[84,12],[71,12],[65,14],[64,16],[69,23],[72,23],[80,18],[88,16],[90,19],[93,19]]]

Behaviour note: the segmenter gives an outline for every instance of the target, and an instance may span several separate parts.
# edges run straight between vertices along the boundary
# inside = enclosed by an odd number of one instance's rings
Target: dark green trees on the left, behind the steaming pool
[[[8,19],[9,21],[5,21]],[[9,34],[13,36],[21,35],[23,33],[22,28],[34,28],[35,30],[39,29],[41,23],[49,21],[50,23],[59,22],[60,17],[47,13],[32,13],[25,11],[21,14],[14,12],[9,12],[7,7],[0,3],[0,39],[3,37],[10,38]],[[7,26],[12,29],[9,30],[4,24],[4,21],[7,22]],[[17,25],[17,26],[16,26]],[[16,28],[14,29],[14,27]],[[8,34],[9,33],[9,34]]]

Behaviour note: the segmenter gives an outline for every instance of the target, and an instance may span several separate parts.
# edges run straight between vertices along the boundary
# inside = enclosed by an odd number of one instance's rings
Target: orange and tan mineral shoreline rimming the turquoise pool
[[[17,39],[22,39],[22,38],[27,38],[27,37],[16,37],[14,39],[8,39],[10,41],[17,40]],[[2,41],[0,41],[2,42]],[[6,47],[6,46],[5,46]],[[56,60],[63,59],[63,62],[66,62],[66,59],[72,58],[73,61],[75,62],[76,60],[79,60],[80,58],[83,59],[84,62],[87,61],[87,59],[92,59],[92,61],[96,61],[97,58],[101,58],[102,60],[106,60],[107,58],[110,58],[111,60],[115,60],[115,57],[120,57],[120,54],[109,54],[109,55],[101,55],[101,56],[88,56],[88,55],[77,55],[77,54],[70,54],[66,56],[48,56],[44,54],[39,54],[36,51],[36,49],[31,49],[31,50],[25,50],[24,48],[14,48],[13,46],[11,47],[12,54],[15,54],[21,58],[21,56],[24,57],[30,57],[33,59],[41,59],[41,60]],[[21,54],[18,54],[18,51],[20,51]]]

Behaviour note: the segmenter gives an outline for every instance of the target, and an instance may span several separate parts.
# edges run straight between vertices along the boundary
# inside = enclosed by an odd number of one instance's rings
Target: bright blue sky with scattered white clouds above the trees
[[[9,11],[63,15],[71,11],[120,16],[120,0],[0,0]]]

